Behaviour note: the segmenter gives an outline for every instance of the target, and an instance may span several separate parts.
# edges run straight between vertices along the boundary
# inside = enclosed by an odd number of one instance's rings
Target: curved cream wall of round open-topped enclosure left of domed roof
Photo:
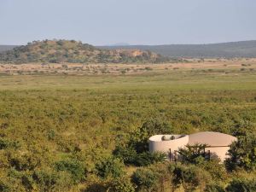
[[[179,137],[173,140],[162,141],[162,137]],[[171,148],[172,153],[174,150],[178,150],[178,148],[183,148],[186,144],[189,143],[189,136],[181,136],[181,135],[156,135],[149,138],[149,152],[153,153],[156,151],[160,152],[169,152],[169,148]]]

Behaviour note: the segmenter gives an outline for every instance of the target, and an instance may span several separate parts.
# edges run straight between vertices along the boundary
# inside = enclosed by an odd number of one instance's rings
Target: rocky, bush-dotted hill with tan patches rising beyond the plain
[[[0,62],[3,63],[156,63],[161,61],[167,61],[167,59],[148,50],[98,49],[90,44],[73,40],[34,41],[0,53]]]

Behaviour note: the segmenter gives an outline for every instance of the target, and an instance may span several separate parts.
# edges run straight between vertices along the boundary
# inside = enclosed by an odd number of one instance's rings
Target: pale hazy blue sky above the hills
[[[255,0],[0,0],[0,44],[94,45],[256,39]]]

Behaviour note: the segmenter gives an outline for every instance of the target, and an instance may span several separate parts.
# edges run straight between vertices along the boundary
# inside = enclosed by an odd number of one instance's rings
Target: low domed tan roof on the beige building
[[[198,132],[189,135],[189,145],[196,143],[207,144],[209,146],[229,146],[237,140],[236,137],[228,134],[212,131]]]

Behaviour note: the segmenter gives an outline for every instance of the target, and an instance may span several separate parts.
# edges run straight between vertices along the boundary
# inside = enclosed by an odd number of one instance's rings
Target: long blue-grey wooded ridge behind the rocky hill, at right
[[[256,40],[222,44],[169,44],[102,46],[101,49],[144,49],[160,55],[183,58],[256,57]]]

